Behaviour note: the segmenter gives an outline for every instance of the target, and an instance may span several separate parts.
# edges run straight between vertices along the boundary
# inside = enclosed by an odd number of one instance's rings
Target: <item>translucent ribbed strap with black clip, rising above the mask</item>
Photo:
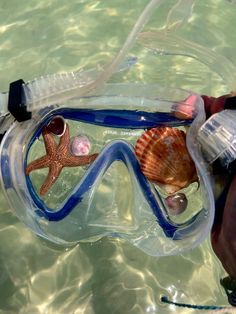
[[[6,113],[6,109],[8,109],[18,121],[25,121],[30,119],[31,112],[35,110],[58,104],[71,98],[84,97],[94,90],[101,88],[117,69],[121,67],[137,35],[149,20],[154,9],[156,9],[162,1],[163,0],[150,0],[117,56],[110,64],[105,66],[101,72],[97,71],[95,77],[93,75],[87,76],[87,72],[76,71],[47,75],[26,84],[23,80],[18,80],[10,85],[10,89],[12,87],[14,92],[11,90],[9,92],[8,106],[6,99],[4,97],[1,97],[4,99],[0,98],[0,109],[2,107],[4,113]],[[13,97],[16,99],[13,99]],[[0,129],[0,132],[1,131]]]

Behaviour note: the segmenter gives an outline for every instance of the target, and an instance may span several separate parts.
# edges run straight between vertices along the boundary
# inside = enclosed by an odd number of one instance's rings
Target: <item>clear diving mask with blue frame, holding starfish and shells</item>
[[[177,118],[176,104],[191,96],[194,120]],[[74,139],[84,139],[85,154],[98,155],[88,165],[63,168],[41,196],[48,168],[27,175],[26,167],[45,155],[42,130],[56,116],[66,122],[70,149]],[[196,140],[204,120],[198,95],[157,85],[107,84],[95,96],[48,107],[31,120],[12,125],[1,145],[5,195],[19,219],[55,243],[68,245],[112,236],[153,256],[181,253],[209,234],[214,217],[210,177]],[[135,154],[142,134],[160,126],[186,132],[187,148],[197,169],[197,180],[180,190],[188,205],[177,216],[169,213],[168,195],[145,176]],[[60,137],[54,137],[57,146]]]

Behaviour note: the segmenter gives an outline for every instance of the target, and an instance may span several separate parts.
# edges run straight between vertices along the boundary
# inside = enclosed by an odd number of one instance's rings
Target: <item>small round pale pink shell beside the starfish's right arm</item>
[[[91,149],[91,142],[86,135],[75,136],[71,139],[70,150],[75,156],[86,156]]]

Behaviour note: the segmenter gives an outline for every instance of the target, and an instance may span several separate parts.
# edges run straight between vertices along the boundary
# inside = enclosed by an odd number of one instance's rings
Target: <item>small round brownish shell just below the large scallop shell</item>
[[[184,193],[176,193],[165,198],[167,211],[170,215],[182,214],[188,206],[188,200]]]

